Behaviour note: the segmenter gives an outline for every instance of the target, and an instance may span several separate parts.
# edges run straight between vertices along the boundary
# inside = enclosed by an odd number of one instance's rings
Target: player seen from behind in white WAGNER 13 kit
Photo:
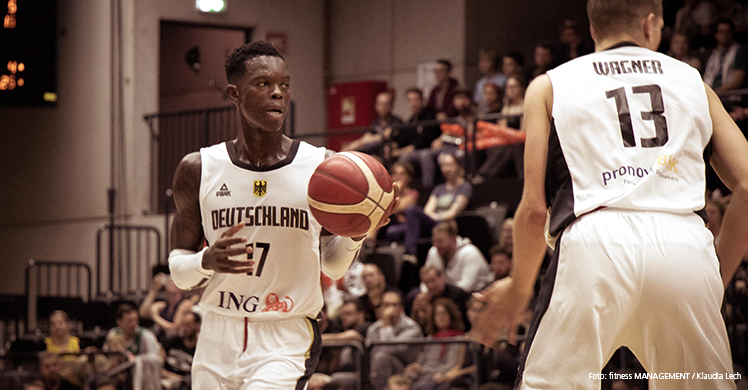
[[[625,345],[650,373],[723,377],[655,379],[651,389],[734,389],[720,304],[748,250],[748,143],[695,69],[654,51],[661,0],[589,0],[587,10],[596,52],[527,91],[514,267],[479,295],[473,332],[493,345],[516,329],[550,208],[555,253],[518,388],[599,389],[603,364]],[[700,217],[710,153],[733,190],[716,251]]]

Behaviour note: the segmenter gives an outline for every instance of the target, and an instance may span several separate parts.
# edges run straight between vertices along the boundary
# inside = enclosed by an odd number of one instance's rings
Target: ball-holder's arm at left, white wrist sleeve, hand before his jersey
[[[169,270],[177,287],[185,290],[202,287],[215,272],[247,273],[254,264],[229,259],[229,256],[251,251],[249,248],[229,248],[247,240],[246,237],[234,237],[244,223],[232,226],[215,243],[201,250],[205,239],[200,213],[201,172],[200,153],[190,153],[177,166],[172,183],[177,211],[171,225]]]

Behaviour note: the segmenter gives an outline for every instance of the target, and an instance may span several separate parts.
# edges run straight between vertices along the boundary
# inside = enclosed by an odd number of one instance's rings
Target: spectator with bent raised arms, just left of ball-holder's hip
[[[159,294],[164,294],[159,299]],[[153,277],[151,289],[140,304],[140,317],[154,322],[154,332],[159,341],[174,334],[179,328],[184,313],[188,312],[195,302],[180,290],[171,276],[159,273]]]

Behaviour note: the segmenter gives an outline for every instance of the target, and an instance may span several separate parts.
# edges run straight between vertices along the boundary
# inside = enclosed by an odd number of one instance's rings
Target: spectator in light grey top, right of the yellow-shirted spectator
[[[122,348],[131,359],[135,360],[138,373],[133,381],[142,384],[143,390],[160,389],[161,367],[163,361],[159,352],[161,346],[156,335],[140,327],[138,309],[131,303],[123,303],[116,310],[117,326],[107,334],[107,340],[121,339]]]

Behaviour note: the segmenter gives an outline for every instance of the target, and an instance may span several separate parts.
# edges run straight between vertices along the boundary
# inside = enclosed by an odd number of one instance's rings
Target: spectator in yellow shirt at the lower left
[[[49,337],[44,338],[46,351],[56,354],[81,353],[80,340],[70,335],[70,317],[62,310],[55,310],[49,316]],[[95,350],[89,347],[88,351]],[[60,375],[70,383],[80,386],[86,380],[86,357],[61,356]]]

